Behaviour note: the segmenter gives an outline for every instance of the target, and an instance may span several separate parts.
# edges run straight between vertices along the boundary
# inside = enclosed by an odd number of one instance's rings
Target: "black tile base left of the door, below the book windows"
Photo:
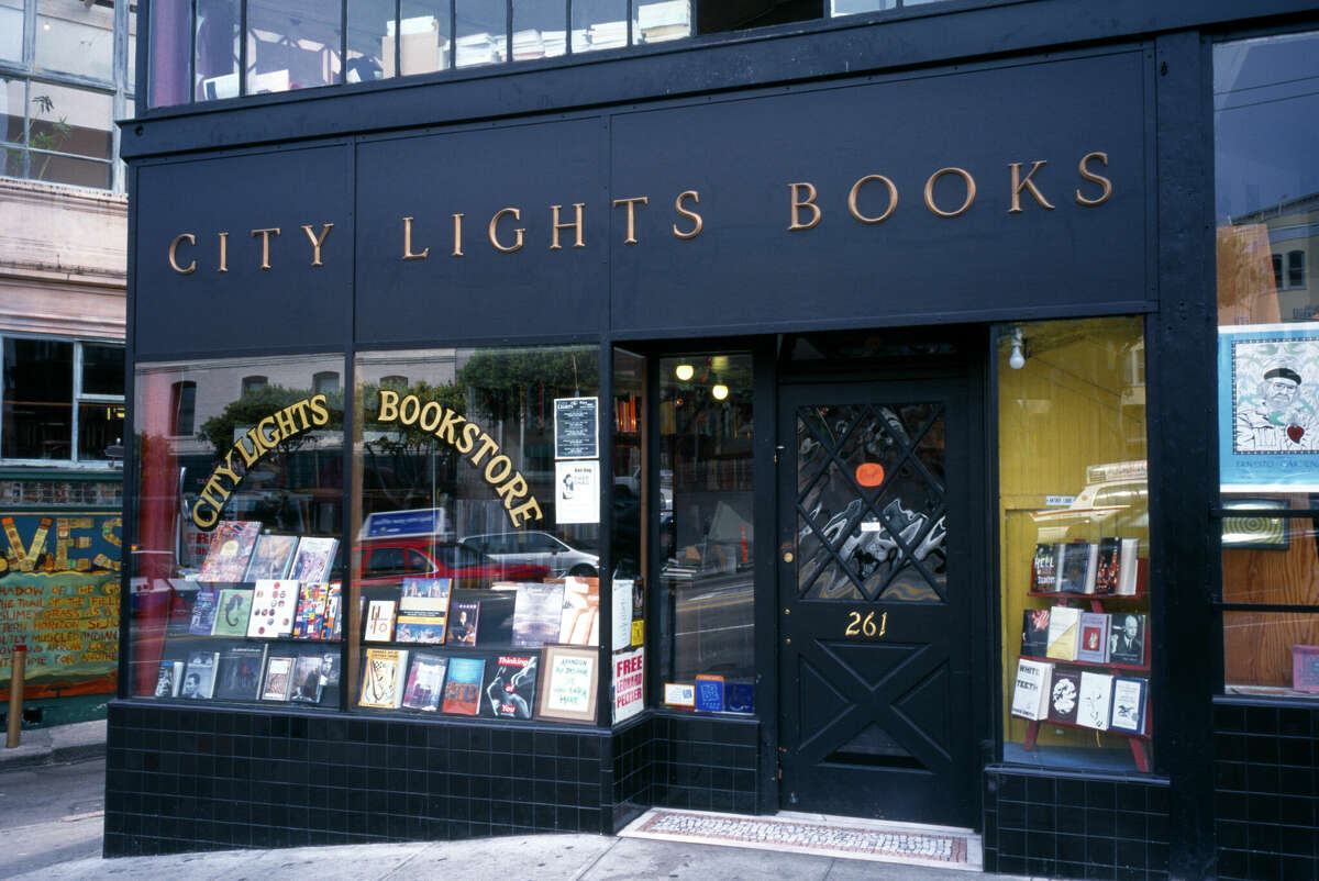
[[[617,731],[115,702],[106,856],[612,834],[652,805],[754,812],[754,720]]]

